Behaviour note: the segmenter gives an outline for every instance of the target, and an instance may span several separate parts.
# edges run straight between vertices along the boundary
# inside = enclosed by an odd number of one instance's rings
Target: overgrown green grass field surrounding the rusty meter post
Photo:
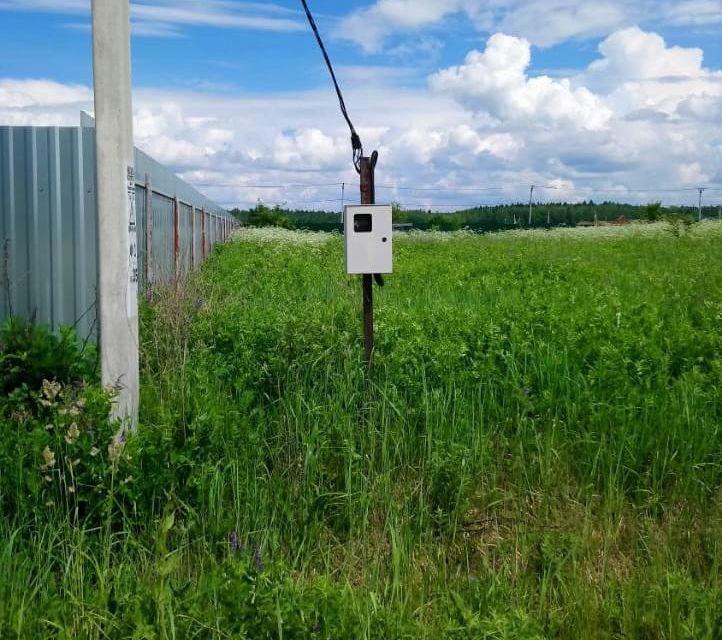
[[[722,637],[722,227],[677,231],[399,235],[370,370],[341,237],[241,232],[143,311],[104,517],[0,526],[0,637]]]

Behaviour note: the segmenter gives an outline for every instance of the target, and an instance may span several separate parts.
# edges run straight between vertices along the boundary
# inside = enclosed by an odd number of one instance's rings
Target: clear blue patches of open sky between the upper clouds
[[[50,13],[41,9],[23,10],[23,3],[13,9],[0,2],[0,38],[7,52],[2,75],[10,78],[52,78],[59,82],[90,84],[91,36],[88,10]],[[39,3],[40,7],[48,3]],[[57,3],[62,6],[62,0]],[[71,6],[76,3],[70,3]],[[89,5],[89,2],[87,3]],[[235,3],[242,7],[246,3]],[[327,76],[305,16],[298,1],[279,0],[278,12],[261,13],[296,22],[298,30],[259,30],[217,28],[203,24],[171,25],[165,34],[143,35],[137,29],[133,42],[133,81],[138,87],[167,86],[180,89],[215,86],[228,91],[268,92],[313,88],[326,82]],[[405,82],[425,81],[425,74],[437,67],[457,64],[471,48],[483,47],[488,31],[479,30],[466,16],[449,16],[439,24],[423,30],[392,34],[385,50],[366,52],[357,44],[338,37],[343,18],[354,9],[369,6],[362,0],[346,2],[317,0],[311,7],[325,32],[336,64],[405,67]],[[19,8],[15,8],[15,7]],[[245,15],[246,12],[243,12]],[[136,21],[136,25],[137,25]],[[640,26],[650,26],[668,44],[701,47],[707,66],[722,68],[722,27],[665,25],[649,16]],[[362,38],[363,35],[359,34]],[[535,47],[530,71],[552,73],[580,70],[598,57],[602,38],[572,39],[552,46]],[[422,41],[433,42],[433,51],[419,51]],[[430,45],[431,46],[431,45]],[[410,50],[395,51],[407,47]],[[388,52],[392,53],[389,54]],[[340,75],[343,77],[343,69]]]

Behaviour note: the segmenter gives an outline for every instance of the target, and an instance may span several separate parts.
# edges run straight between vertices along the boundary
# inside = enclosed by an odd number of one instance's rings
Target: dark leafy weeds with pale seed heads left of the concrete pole
[[[0,512],[7,518],[97,522],[129,480],[125,436],[110,419],[113,391],[95,376],[95,350],[70,329],[53,335],[19,320],[2,330]]]

